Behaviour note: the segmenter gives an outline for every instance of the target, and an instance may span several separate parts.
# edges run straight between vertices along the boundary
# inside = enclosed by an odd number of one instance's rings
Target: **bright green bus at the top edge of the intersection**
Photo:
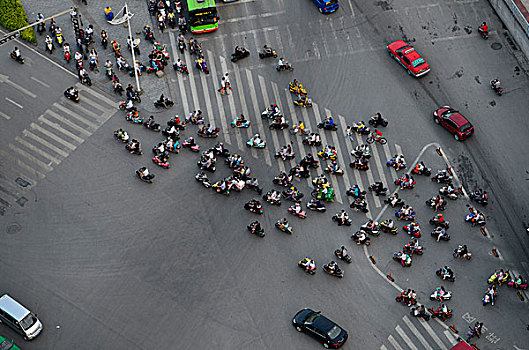
[[[207,33],[219,29],[215,0],[187,0],[187,9],[192,33]]]

